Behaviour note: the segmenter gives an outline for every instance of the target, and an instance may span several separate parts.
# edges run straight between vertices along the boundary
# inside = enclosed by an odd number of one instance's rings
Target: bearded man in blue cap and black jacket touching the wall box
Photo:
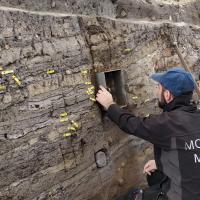
[[[96,99],[122,130],[154,144],[155,165],[145,169],[151,172],[156,166],[168,176],[169,186],[163,186],[168,200],[200,200],[200,112],[191,103],[194,79],[180,67],[151,78],[158,82],[161,114],[140,118],[123,111],[102,86]]]

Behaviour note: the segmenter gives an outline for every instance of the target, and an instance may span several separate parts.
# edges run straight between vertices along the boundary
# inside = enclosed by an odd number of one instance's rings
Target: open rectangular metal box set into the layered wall
[[[98,72],[96,74],[97,84],[104,86],[113,95],[114,101],[121,107],[127,105],[125,78],[123,70]]]

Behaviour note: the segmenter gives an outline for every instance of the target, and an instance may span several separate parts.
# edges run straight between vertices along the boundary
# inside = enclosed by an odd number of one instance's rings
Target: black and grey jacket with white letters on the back
[[[125,132],[154,144],[157,168],[170,179],[169,200],[200,200],[200,112],[184,98],[164,112],[136,117],[116,104],[107,115]]]

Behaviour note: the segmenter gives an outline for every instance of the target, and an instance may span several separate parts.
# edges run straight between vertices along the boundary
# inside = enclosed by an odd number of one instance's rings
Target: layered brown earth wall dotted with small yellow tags
[[[111,200],[145,186],[152,146],[93,101],[96,74],[124,89],[125,109],[159,112],[149,75],[181,65],[172,35],[199,80],[199,1],[0,5],[0,199]]]

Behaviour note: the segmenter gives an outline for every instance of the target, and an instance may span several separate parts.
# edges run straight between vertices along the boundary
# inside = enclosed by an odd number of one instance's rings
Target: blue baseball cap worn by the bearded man
[[[155,73],[151,78],[169,90],[174,96],[193,92],[195,81],[191,73],[182,67],[174,67],[164,73]]]

